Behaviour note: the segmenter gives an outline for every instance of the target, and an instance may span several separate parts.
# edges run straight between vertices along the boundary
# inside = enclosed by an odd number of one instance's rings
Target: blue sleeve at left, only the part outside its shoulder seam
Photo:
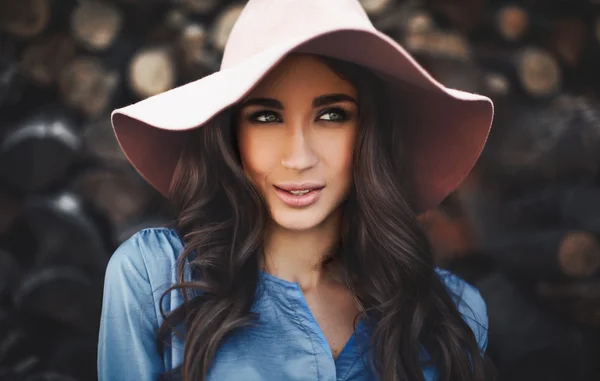
[[[106,269],[98,341],[99,381],[154,381],[164,371],[156,348],[158,319],[139,234]]]

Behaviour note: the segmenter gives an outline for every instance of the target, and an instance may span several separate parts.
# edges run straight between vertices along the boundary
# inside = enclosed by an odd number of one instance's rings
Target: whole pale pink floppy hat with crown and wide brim
[[[168,194],[181,131],[202,127],[240,101],[291,52],[351,61],[385,78],[405,132],[418,211],[436,206],[477,161],[492,101],[448,89],[398,43],[375,29],[358,0],[249,0],[231,31],[219,71],[112,113],[132,165]]]

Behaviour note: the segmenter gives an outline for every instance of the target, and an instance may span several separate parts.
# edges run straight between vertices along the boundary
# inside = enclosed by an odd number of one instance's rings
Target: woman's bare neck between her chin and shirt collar
[[[323,263],[334,253],[341,237],[341,218],[331,216],[310,230],[287,230],[272,223],[264,246],[266,272],[300,285],[304,291],[330,280]]]

